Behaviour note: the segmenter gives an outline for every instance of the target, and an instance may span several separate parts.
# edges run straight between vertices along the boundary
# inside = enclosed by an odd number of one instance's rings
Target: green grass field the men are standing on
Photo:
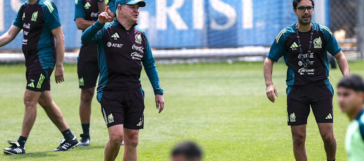
[[[364,76],[363,61],[350,62],[351,73]],[[80,89],[76,65],[64,65],[65,82],[51,77],[51,92],[72,132],[82,133],[79,118]],[[145,90],[145,129],[140,130],[138,160],[167,161],[177,143],[192,140],[202,146],[205,161],[287,161],[294,160],[290,127],[286,122],[286,69],[282,61],[273,69],[278,89],[276,103],[265,94],[263,63],[158,65],[165,91],[165,109],[158,114],[153,89],[142,73]],[[339,69],[330,71],[334,89],[341,78]],[[24,116],[25,67],[0,65],[0,148],[19,137]],[[334,133],[338,161],[346,160],[344,150],[348,118],[340,112],[334,96]],[[0,160],[103,160],[108,140],[107,127],[94,97],[91,116],[91,145],[67,152],[52,152],[62,134],[38,105],[37,119],[25,144],[27,153],[0,154]],[[323,142],[311,112],[307,125],[308,160],[326,161]],[[123,147],[116,160],[122,160]]]

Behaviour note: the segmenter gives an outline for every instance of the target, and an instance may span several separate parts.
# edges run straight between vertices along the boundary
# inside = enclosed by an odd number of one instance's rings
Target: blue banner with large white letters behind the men
[[[65,47],[80,47],[82,31],[74,21],[74,0],[53,0]],[[23,1],[0,0],[0,34],[15,19]],[[138,27],[153,48],[225,48],[272,44],[281,29],[297,21],[292,0],[146,0]],[[6,15],[6,16],[5,16]],[[22,32],[0,49],[21,49]]]

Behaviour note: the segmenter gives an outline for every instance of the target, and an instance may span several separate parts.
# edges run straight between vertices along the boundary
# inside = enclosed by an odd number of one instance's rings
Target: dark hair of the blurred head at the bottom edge
[[[202,157],[201,148],[191,141],[182,142],[181,144],[175,146],[172,150],[172,156],[176,156],[178,154],[185,154],[187,159],[192,160],[195,158]]]

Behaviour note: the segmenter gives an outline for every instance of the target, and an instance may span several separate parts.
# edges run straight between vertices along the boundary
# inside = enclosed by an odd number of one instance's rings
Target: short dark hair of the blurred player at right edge
[[[358,75],[350,75],[342,78],[337,84],[337,88],[344,87],[353,89],[356,92],[364,92],[364,81]]]

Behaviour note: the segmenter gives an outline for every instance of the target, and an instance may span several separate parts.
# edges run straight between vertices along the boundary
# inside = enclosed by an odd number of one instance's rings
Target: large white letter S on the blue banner
[[[231,5],[221,0],[210,0],[210,5],[215,11],[222,13],[227,18],[226,23],[223,25],[220,25],[214,19],[211,19],[210,27],[212,29],[225,30],[231,28],[236,23],[237,13]]]

